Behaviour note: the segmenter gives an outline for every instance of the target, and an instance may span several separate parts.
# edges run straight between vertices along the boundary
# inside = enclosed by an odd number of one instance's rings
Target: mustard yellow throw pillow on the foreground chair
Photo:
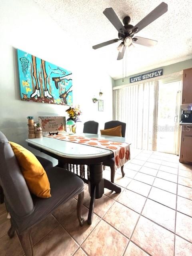
[[[42,198],[51,197],[47,174],[36,156],[17,143],[9,142],[18,160],[27,186],[34,195]]]

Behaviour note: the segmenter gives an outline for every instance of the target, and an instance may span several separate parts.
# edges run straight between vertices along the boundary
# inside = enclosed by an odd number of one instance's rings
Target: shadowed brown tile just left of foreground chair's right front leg
[[[58,220],[58,222],[62,222],[67,216],[69,216],[74,210],[77,208],[77,200],[74,198],[70,199],[65,204],[59,206],[53,212],[53,216]]]

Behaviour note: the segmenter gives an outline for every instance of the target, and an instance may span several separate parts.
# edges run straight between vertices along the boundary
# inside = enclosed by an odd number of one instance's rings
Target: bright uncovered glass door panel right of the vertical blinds
[[[180,94],[180,81],[166,83],[159,81],[156,126],[157,151],[177,153]]]

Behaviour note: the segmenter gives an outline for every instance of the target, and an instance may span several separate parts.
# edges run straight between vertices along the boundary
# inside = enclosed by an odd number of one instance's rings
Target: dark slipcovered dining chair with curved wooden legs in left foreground
[[[84,223],[81,216],[84,182],[72,172],[59,167],[48,168],[46,174],[50,182],[51,197],[39,198],[30,194],[16,156],[6,136],[0,132],[0,185],[11,216],[8,236],[12,238],[16,231],[26,256],[33,256],[32,227],[77,195],[77,217],[80,226]]]

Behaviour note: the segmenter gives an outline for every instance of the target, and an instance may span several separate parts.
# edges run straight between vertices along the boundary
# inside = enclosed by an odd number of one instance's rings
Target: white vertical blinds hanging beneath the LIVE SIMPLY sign
[[[153,150],[158,81],[113,91],[114,120],[126,123],[126,138],[134,148]]]

